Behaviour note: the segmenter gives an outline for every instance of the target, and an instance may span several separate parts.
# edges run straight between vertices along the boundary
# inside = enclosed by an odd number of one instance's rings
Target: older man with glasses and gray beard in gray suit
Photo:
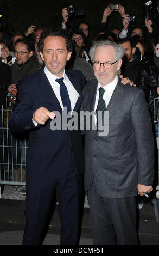
[[[97,127],[84,129],[94,245],[137,245],[135,197],[152,191],[151,119],[142,90],[121,83],[123,56],[115,42],[95,42],[90,57],[97,80],[83,90],[81,111],[94,111],[90,127]]]

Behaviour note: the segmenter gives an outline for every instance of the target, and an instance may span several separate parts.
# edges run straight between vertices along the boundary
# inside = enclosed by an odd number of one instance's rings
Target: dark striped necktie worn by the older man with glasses
[[[97,105],[97,109],[96,109],[96,113],[97,113],[97,130],[102,125],[102,120],[104,118],[104,111],[106,109],[105,101],[103,99],[104,93],[105,93],[105,89],[100,87],[99,88],[99,100],[98,100],[98,105]]]

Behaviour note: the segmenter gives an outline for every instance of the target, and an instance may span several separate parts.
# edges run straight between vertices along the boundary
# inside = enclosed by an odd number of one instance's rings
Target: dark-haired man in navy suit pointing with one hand
[[[44,31],[38,47],[45,67],[18,82],[17,101],[8,122],[13,132],[30,130],[23,245],[42,245],[55,194],[61,245],[77,245],[84,172],[82,137],[79,130],[53,131],[50,124],[55,111],[61,117],[64,107],[79,111],[86,80],[78,70],[65,70],[72,44],[61,31]]]

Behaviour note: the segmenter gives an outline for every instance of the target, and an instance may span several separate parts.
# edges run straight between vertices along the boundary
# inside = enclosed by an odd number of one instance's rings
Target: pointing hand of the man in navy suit
[[[50,119],[54,119],[55,118],[55,114],[54,112],[50,112],[48,111],[47,108],[45,107],[40,107],[38,109],[36,109],[36,111],[34,111],[33,113],[33,120],[39,124],[45,124],[46,121],[50,118]]]

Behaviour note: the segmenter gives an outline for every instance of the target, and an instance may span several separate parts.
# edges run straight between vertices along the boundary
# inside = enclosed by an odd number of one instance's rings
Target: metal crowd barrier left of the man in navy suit
[[[0,107],[0,184],[24,186],[28,137],[24,133],[12,133],[9,129],[12,103],[8,98]]]

